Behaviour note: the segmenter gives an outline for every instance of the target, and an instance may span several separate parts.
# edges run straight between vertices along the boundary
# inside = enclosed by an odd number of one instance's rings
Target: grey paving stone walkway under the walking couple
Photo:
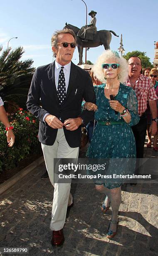
[[[158,157],[158,152],[145,148],[145,156]],[[157,184],[123,185],[118,233],[112,240],[106,238],[111,208],[100,210],[104,195],[94,184],[72,184],[74,206],[67,212],[65,242],[53,248],[53,187],[40,178],[44,171],[41,164],[0,196],[0,247],[28,247],[29,256],[158,255]]]

